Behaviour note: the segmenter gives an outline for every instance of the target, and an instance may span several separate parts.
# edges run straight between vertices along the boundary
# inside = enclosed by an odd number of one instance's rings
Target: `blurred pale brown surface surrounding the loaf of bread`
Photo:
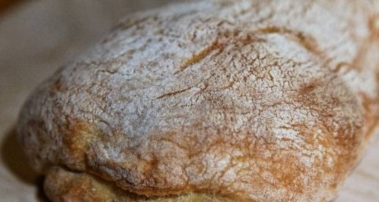
[[[170,2],[174,0],[0,0],[0,201],[45,201],[41,179],[14,138],[28,94],[125,15]],[[337,202],[379,201],[378,154],[377,135]]]

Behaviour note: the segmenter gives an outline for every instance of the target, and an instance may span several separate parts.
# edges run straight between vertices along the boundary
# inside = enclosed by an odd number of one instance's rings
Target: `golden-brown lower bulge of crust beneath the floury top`
[[[181,196],[141,196],[118,188],[87,173],[54,167],[44,182],[45,194],[54,202],[232,202],[215,194],[187,193]]]

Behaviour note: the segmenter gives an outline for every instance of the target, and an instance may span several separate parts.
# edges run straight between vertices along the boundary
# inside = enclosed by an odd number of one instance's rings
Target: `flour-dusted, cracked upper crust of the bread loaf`
[[[32,165],[147,196],[329,201],[378,120],[374,1],[196,1],[127,17],[23,107]]]

